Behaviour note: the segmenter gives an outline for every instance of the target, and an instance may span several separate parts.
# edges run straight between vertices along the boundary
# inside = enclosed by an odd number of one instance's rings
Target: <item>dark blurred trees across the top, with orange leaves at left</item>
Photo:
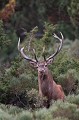
[[[49,2],[47,0],[27,0],[27,2],[10,0],[4,7],[5,3],[5,0],[2,1],[1,12],[5,13],[7,7],[10,10],[8,10],[8,14],[2,14],[2,17],[6,20],[9,19],[6,22],[13,29],[25,28],[30,31],[34,26],[39,26],[42,32],[44,21],[50,21],[61,26],[61,31],[64,26],[64,34],[71,40],[78,38],[78,0],[49,0]],[[5,25],[7,25],[6,22],[4,20]]]

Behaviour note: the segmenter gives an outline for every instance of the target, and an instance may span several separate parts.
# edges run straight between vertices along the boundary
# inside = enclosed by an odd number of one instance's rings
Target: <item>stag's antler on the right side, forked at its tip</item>
[[[47,59],[46,59],[46,61],[49,61],[50,59],[53,59],[59,52],[60,52],[60,50],[61,50],[61,48],[62,48],[62,45],[63,45],[63,39],[64,39],[64,37],[63,37],[63,34],[60,32],[60,34],[61,34],[61,38],[59,38],[55,33],[54,33],[54,38],[57,38],[59,41],[60,41],[60,46],[57,48],[57,50],[56,50],[56,52],[54,53],[54,54],[52,54],[50,57],[48,57]]]

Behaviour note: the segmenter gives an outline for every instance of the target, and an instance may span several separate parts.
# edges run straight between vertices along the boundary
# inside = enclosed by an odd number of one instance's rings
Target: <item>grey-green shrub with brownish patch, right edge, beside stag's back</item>
[[[79,75],[75,69],[69,69],[66,74],[57,77],[66,94],[76,93],[79,85]]]

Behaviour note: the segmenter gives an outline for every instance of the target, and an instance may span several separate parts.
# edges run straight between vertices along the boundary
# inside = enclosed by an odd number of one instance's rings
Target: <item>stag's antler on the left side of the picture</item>
[[[25,53],[24,53],[24,47],[20,48],[20,38],[19,38],[19,41],[18,41],[18,50],[20,51],[21,55],[22,55],[26,60],[28,60],[28,61],[30,61],[30,62],[35,62],[35,63],[38,62],[34,50],[33,50],[33,52],[34,52],[35,59],[29,58],[27,55],[25,55]]]

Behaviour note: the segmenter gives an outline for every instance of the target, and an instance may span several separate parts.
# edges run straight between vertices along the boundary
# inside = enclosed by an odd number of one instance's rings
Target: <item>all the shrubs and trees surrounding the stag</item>
[[[79,1],[1,0],[0,2],[0,119],[78,120],[79,119]],[[22,58],[21,47],[39,60],[50,56],[64,35],[63,48],[49,66],[56,83],[65,92],[65,101],[43,107],[38,95],[37,71]],[[43,47],[45,52],[43,53]],[[44,113],[44,114],[42,114]],[[14,116],[14,117],[13,117]]]

